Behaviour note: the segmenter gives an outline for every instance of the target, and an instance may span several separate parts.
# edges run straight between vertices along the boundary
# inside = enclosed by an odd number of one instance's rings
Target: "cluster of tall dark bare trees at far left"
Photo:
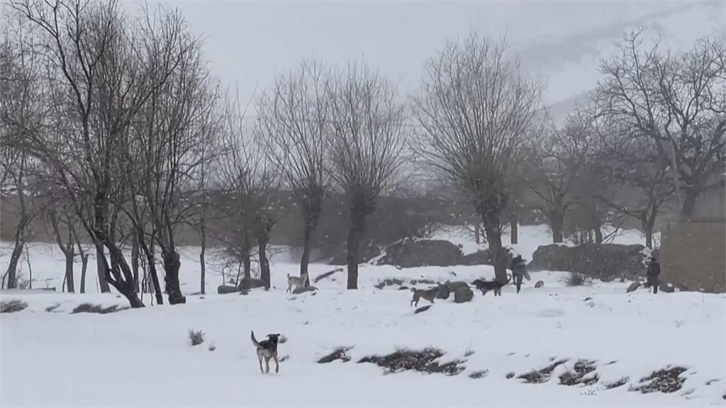
[[[202,146],[214,135],[217,98],[200,42],[181,15],[162,8],[131,18],[115,1],[9,7],[2,147],[33,163],[17,191],[32,184],[34,201],[46,198],[68,289],[78,226],[96,248],[102,292],[111,285],[131,306],[143,306],[137,259],[130,263],[122,250],[133,241],[134,253],[147,258],[158,303],[158,252],[169,303],[184,303],[174,230],[195,205],[191,192],[210,160]]]

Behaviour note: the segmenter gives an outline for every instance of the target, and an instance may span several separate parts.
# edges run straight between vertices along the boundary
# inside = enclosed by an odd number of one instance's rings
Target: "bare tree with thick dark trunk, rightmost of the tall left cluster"
[[[202,60],[200,42],[190,36],[179,12],[167,13],[159,25],[154,23],[147,16],[139,38],[152,56],[150,75],[156,81],[164,80],[131,123],[123,160],[124,171],[132,175],[133,210],[127,214],[147,258],[153,256],[149,241],[158,245],[169,303],[178,304],[186,303],[186,298],[179,285],[181,260],[175,230],[195,207],[192,197],[199,185],[197,177],[209,160],[203,147],[212,135],[208,129],[216,87]],[[146,216],[139,216],[139,208],[145,209]],[[150,221],[150,240],[144,239],[145,219]],[[151,259],[149,265],[153,265]]]

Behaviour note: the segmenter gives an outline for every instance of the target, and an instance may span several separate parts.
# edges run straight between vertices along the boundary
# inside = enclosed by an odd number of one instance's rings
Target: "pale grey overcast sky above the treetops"
[[[597,61],[625,30],[646,25],[674,46],[725,35],[726,1],[160,1],[205,36],[214,72],[251,97],[306,57],[365,59],[415,90],[446,39],[506,35],[523,67],[547,81],[547,103],[597,81]],[[126,7],[134,7],[126,1]]]

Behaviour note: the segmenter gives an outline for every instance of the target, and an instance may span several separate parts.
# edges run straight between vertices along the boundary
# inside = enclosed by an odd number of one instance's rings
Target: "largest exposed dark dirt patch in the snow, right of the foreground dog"
[[[363,357],[359,363],[373,363],[379,367],[386,368],[387,372],[401,372],[414,370],[418,372],[440,372],[446,375],[460,374],[466,367],[460,364],[462,361],[454,360],[446,364],[439,364],[436,359],[444,353],[436,348],[424,348],[421,351],[399,350],[387,356]]]

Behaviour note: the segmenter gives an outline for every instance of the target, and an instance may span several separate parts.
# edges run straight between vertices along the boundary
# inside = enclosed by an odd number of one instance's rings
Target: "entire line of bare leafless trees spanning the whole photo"
[[[256,256],[269,287],[270,234],[291,203],[307,277],[323,202],[336,194],[348,212],[347,287],[356,289],[366,220],[412,163],[470,205],[502,281],[502,230],[532,197],[554,242],[579,211],[595,242],[616,213],[637,219],[652,247],[664,203],[677,200],[690,217],[698,197],[723,187],[724,38],[676,53],[643,29],[627,33],[620,54],[602,61],[590,102],[558,124],[542,82],[521,71],[503,40],[446,42],[409,101],[365,63],[305,60],[245,105],[213,78],[203,42],[177,11],[146,6],[129,16],[113,0],[13,0],[9,10],[0,185],[12,186],[4,195],[17,197],[20,216],[7,287],[16,285],[28,225],[41,217],[66,257],[69,292],[73,258],[84,271],[88,259],[83,234],[102,292],[114,287],[142,307],[148,282],[157,303],[163,292],[185,303],[179,229],[200,236],[204,293],[212,216],[229,225],[224,245],[244,278]],[[254,123],[245,121],[250,106]]]

